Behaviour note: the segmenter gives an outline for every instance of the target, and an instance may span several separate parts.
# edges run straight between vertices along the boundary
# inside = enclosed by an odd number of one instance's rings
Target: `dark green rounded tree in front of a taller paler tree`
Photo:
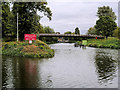
[[[113,35],[113,31],[117,28],[117,24],[111,17],[103,16],[97,20],[95,28],[97,35],[103,35],[107,38]]]

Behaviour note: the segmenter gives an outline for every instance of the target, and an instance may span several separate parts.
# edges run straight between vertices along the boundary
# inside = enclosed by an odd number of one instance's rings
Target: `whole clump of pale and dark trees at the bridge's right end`
[[[117,32],[114,34],[117,29],[117,23],[115,22],[117,16],[111,7],[98,7],[97,16],[96,25],[89,28],[88,35],[102,35],[106,38],[118,35]]]

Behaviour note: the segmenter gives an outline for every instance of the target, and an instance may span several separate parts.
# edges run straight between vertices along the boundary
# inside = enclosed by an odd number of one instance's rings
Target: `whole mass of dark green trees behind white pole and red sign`
[[[43,27],[39,23],[42,17],[37,12],[41,12],[51,20],[52,13],[50,8],[47,7],[47,2],[13,2],[11,11],[9,4],[9,2],[2,3],[3,38],[6,35],[16,38],[17,13],[20,40],[23,40],[24,34],[44,33]]]

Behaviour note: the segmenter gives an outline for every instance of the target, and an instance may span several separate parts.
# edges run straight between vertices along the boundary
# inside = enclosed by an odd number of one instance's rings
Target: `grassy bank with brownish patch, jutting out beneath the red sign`
[[[54,56],[54,50],[40,40],[36,40],[32,44],[28,42],[3,42],[2,55],[50,58]]]

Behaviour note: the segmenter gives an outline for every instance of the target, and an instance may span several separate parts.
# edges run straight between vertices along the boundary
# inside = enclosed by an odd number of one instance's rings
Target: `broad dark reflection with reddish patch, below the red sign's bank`
[[[4,88],[36,88],[41,87],[41,77],[38,60],[30,58],[3,57],[3,87]],[[39,69],[39,70],[38,70]]]

